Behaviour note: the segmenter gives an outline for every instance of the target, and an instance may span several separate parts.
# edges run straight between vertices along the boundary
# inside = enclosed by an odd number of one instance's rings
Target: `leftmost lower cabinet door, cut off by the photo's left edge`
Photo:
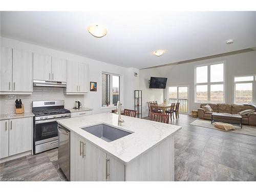
[[[0,122],[0,159],[9,155],[9,120]]]

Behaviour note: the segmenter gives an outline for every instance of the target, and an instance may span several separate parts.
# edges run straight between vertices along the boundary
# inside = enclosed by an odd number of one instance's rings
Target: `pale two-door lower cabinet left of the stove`
[[[1,120],[0,158],[32,150],[32,117]]]

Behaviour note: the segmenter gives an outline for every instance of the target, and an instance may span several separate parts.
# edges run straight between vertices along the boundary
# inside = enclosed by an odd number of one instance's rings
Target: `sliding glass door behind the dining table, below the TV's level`
[[[180,102],[179,112],[188,112],[188,87],[187,86],[171,86],[168,87],[168,103]]]

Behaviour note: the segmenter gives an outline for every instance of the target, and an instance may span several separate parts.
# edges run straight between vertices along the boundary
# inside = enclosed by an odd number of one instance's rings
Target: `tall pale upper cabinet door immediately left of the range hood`
[[[13,49],[13,92],[32,92],[32,53]]]

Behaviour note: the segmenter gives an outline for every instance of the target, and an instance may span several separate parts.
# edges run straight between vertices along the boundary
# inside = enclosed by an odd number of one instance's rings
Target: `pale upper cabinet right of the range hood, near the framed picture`
[[[88,65],[86,63],[67,61],[67,94],[84,94],[88,92]]]

